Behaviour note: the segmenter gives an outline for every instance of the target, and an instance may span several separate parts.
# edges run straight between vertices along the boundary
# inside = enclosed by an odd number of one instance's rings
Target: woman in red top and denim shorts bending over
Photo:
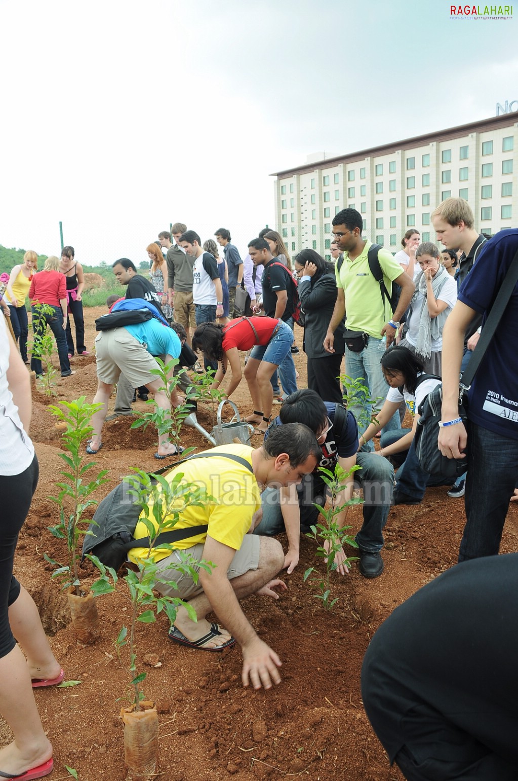
[[[259,423],[255,433],[261,434],[270,423],[273,402],[270,377],[286,358],[292,344],[293,331],[282,320],[272,317],[238,317],[225,326],[202,323],[193,335],[193,350],[202,351],[210,361],[221,362],[211,387],[219,387],[227,367],[232,369],[227,398],[243,376],[239,350],[254,348],[245,366],[245,380],[254,402],[254,415],[250,415],[249,422]]]

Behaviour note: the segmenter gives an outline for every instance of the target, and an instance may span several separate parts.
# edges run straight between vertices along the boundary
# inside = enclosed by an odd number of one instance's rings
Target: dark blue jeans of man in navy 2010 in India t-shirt
[[[459,562],[498,553],[518,479],[518,440],[476,423],[467,427],[466,526]]]

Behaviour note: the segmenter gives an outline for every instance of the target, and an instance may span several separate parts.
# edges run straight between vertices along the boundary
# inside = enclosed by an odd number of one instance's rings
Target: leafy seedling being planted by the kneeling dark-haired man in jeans
[[[357,541],[354,537],[349,537],[347,534],[350,526],[338,526],[336,523],[336,516],[339,515],[345,508],[351,505],[359,505],[364,500],[361,497],[352,497],[342,504],[337,505],[336,501],[339,494],[346,489],[348,478],[361,469],[360,466],[355,465],[349,472],[344,472],[342,467],[337,463],[335,470],[332,472],[330,469],[321,467],[318,471],[322,476],[325,484],[329,490],[329,506],[326,509],[316,502],[314,506],[321,512],[323,521],[315,523],[314,526],[310,526],[310,532],[307,533],[307,537],[310,540],[314,540],[317,544],[316,555],[318,558],[324,559],[325,570],[324,574],[318,573],[315,567],[310,567],[304,572],[304,583],[310,578],[310,583],[318,589],[318,593],[313,596],[315,599],[321,600],[321,603],[326,610],[332,610],[333,605],[336,603],[338,597],[332,597],[332,581],[331,573],[336,569],[335,557],[336,554],[342,549],[344,545],[350,545],[351,547],[358,547]],[[357,556],[349,556],[343,562],[347,567],[351,562],[357,560]]]

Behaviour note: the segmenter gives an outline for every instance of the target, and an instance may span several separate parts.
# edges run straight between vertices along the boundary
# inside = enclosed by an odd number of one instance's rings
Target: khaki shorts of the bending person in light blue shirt
[[[157,380],[151,374],[157,362],[126,328],[101,331],[95,338],[95,359],[98,379],[107,385],[114,385],[121,373],[134,388]]]

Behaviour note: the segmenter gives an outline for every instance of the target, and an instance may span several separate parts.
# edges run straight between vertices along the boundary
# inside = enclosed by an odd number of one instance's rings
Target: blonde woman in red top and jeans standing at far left
[[[61,376],[69,377],[73,374],[72,369],[70,369],[69,348],[66,344],[65,335],[67,319],[66,279],[65,275],[58,271],[59,262],[59,258],[51,255],[45,261],[43,271],[34,274],[30,283],[29,298],[34,330],[34,346],[33,355],[30,359],[30,368],[36,373],[36,376],[43,374],[41,357],[37,354],[37,344],[47,330],[47,326],[51,326],[51,331],[58,346]],[[42,307],[42,304],[45,306]]]

